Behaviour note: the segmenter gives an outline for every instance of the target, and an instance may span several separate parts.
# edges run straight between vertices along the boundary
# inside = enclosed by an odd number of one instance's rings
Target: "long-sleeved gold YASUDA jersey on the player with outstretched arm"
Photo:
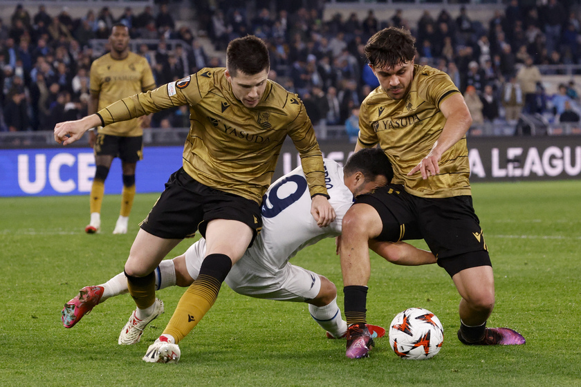
[[[311,120],[297,95],[268,80],[259,104],[244,106],[225,68],[203,68],[177,82],[140,93],[98,112],[104,125],[173,106],[190,105],[183,168],[203,185],[261,202],[289,135],[300,153],[311,196],[327,195]]]

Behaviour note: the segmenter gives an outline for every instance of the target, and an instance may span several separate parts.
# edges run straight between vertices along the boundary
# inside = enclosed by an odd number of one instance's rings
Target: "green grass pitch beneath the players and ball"
[[[386,338],[368,359],[344,356],[306,304],[261,301],[225,285],[181,342],[179,364],[146,364],[147,346],[169,321],[182,288],[158,292],[166,312],[136,346],[118,346],[133,301],[109,299],[72,329],[62,305],[84,285],[122,267],[137,224],[156,195],[138,195],[127,235],[112,235],[119,196],[103,203],[102,234],[86,235],[86,196],[0,199],[0,385],[2,386],[581,386],[581,181],[487,183],[473,187],[495,268],[489,326],[522,332],[524,346],[475,348],[456,338],[459,296],[445,271],[399,267],[374,256],[367,317],[387,328],[406,308],[444,325],[436,357],[396,357]],[[181,254],[186,240],[172,254]],[[417,243],[418,247],[425,247]],[[293,258],[338,285],[339,258],[324,240]]]

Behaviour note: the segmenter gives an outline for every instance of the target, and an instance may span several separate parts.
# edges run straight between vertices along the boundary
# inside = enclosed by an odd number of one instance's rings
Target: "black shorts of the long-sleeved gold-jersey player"
[[[239,220],[248,225],[254,234],[252,241],[262,227],[257,202],[207,187],[180,168],[169,176],[165,190],[140,227],[160,238],[183,239],[192,238],[196,230],[205,236],[213,219]]]

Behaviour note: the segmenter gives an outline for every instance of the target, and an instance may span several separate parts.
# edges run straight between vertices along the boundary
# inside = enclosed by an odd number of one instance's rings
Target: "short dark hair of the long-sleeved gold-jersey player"
[[[254,35],[230,41],[226,48],[226,68],[233,76],[238,70],[246,75],[255,75],[262,70],[269,70],[270,57],[266,44]]]

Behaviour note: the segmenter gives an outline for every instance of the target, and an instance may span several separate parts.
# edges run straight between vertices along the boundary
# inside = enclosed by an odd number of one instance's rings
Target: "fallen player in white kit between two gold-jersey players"
[[[299,250],[323,238],[341,233],[341,220],[353,203],[353,196],[366,193],[391,180],[393,171],[387,156],[380,149],[365,149],[349,158],[342,168],[332,160],[324,160],[326,187],[337,217],[328,227],[318,227],[309,215],[311,198],[301,167],[279,178],[270,186],[262,205],[263,229],[236,265],[225,283],[235,292],[260,299],[308,303],[315,321],[328,332],[328,337],[344,337],[347,323],[342,319],[336,302],[335,285],[320,274],[288,263]],[[388,261],[400,265],[435,263],[436,258],[425,250],[406,243],[378,243],[374,247]],[[205,240],[201,239],[174,258],[160,263],[156,269],[156,286],[188,286],[197,278],[205,255]],[[98,303],[111,296],[127,292],[123,273],[102,285],[86,286],[62,310],[62,321],[71,328]],[[385,333],[380,327],[367,325],[378,337]],[[163,342],[156,341],[147,351],[145,361],[177,361],[160,357]]]

